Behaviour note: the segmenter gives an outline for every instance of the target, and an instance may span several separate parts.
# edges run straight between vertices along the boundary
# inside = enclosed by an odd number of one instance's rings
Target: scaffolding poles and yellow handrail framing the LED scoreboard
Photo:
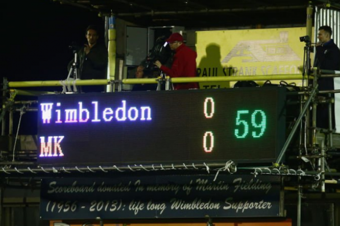
[[[332,74],[321,74],[321,71],[314,68],[311,75],[270,75],[270,76],[230,76],[230,77],[214,77],[214,78],[156,78],[156,79],[123,79],[119,81],[110,80],[77,80],[75,83],[78,86],[82,85],[112,85],[111,87],[122,86],[122,84],[139,84],[139,83],[166,83],[166,87],[171,87],[171,83],[182,82],[217,82],[217,81],[249,81],[249,80],[291,80],[291,79],[303,79],[305,84],[309,85],[302,87],[300,91],[291,92],[289,95],[299,96],[300,114],[294,119],[291,125],[290,133],[287,137],[284,147],[281,150],[275,163],[265,167],[238,167],[233,161],[228,161],[225,164],[153,164],[153,165],[125,165],[125,166],[64,166],[64,167],[42,167],[35,163],[37,153],[34,150],[23,151],[16,148],[18,141],[18,134],[20,128],[20,120],[25,112],[37,111],[37,101],[16,101],[17,95],[29,95],[36,96],[42,93],[41,91],[27,91],[20,90],[20,87],[46,87],[46,86],[62,86],[59,81],[35,81],[35,82],[8,82],[3,80],[3,106],[1,109],[0,121],[2,123],[2,137],[6,137],[6,126],[8,126],[8,153],[1,153],[0,162],[0,174],[5,177],[22,176],[27,177],[34,175],[35,177],[53,177],[60,176],[61,174],[89,174],[100,172],[102,174],[109,172],[149,172],[149,171],[171,171],[171,170],[187,170],[187,171],[206,171],[208,173],[214,173],[215,179],[219,173],[224,174],[253,174],[256,175],[279,175],[285,177],[295,177],[297,180],[296,190],[298,192],[298,225],[301,224],[301,198],[305,189],[313,189],[314,191],[326,192],[326,184],[338,183],[334,177],[340,176],[340,173],[335,173],[336,169],[332,169],[332,166],[327,163],[327,159],[337,155],[338,150],[333,146],[333,128],[331,122],[331,114],[329,117],[328,128],[316,127],[316,108],[318,104],[328,104],[328,109],[332,109],[334,98],[328,95],[328,98],[320,101],[317,97],[320,94],[340,93],[340,90],[318,90],[317,80],[321,77],[339,77],[336,71]],[[310,82],[312,81],[312,82]],[[121,90],[121,88],[118,88]],[[114,91],[114,89],[111,89]],[[157,91],[155,91],[157,92]],[[52,94],[53,92],[47,92]],[[310,109],[312,109],[310,111]],[[14,131],[13,115],[19,113],[19,122],[17,125],[17,131]],[[309,120],[311,119],[311,120]],[[6,125],[8,124],[8,125]],[[298,144],[292,144],[292,138],[299,133]],[[322,139],[318,136],[322,134]],[[294,150],[287,155],[287,150]],[[289,158],[298,159],[300,162],[294,165],[294,168],[289,168],[284,165],[284,156]],[[287,160],[287,159],[286,159]],[[307,178],[307,179],[306,179]],[[308,181],[309,186],[307,188],[303,185]],[[286,186],[287,187],[287,186]],[[2,193],[1,193],[2,194]]]

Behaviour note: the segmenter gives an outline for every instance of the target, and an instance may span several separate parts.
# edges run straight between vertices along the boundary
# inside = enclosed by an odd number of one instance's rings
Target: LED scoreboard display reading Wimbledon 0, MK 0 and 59
[[[38,163],[272,162],[284,87],[39,96]]]

